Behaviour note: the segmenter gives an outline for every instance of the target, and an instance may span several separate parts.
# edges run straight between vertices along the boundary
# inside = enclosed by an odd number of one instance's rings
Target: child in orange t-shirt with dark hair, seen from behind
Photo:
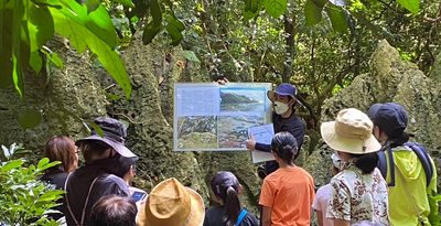
[[[299,151],[295,138],[279,132],[272,138],[271,150],[280,168],[263,180],[259,200],[261,226],[309,226],[314,181],[293,163]]]

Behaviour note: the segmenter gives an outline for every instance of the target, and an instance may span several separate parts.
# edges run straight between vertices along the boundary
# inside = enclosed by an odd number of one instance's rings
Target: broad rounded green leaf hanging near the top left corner
[[[52,39],[54,35],[54,22],[47,7],[30,4],[28,30],[31,52],[40,50]]]

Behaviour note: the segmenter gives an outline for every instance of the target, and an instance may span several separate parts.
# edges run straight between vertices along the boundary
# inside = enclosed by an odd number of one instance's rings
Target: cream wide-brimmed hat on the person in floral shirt
[[[365,154],[381,148],[372,133],[369,117],[355,108],[341,110],[335,121],[323,122],[320,131],[323,140],[337,151]]]

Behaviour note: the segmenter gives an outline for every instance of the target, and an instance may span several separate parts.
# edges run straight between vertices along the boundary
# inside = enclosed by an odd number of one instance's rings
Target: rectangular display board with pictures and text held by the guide
[[[270,122],[269,83],[175,84],[175,151],[246,150],[248,129]]]

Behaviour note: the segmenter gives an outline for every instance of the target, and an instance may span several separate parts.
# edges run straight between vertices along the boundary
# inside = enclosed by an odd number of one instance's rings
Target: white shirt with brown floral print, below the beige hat
[[[389,225],[387,184],[378,169],[372,174],[348,163],[331,180],[331,198],[326,218],[344,219],[351,224],[369,220]]]

